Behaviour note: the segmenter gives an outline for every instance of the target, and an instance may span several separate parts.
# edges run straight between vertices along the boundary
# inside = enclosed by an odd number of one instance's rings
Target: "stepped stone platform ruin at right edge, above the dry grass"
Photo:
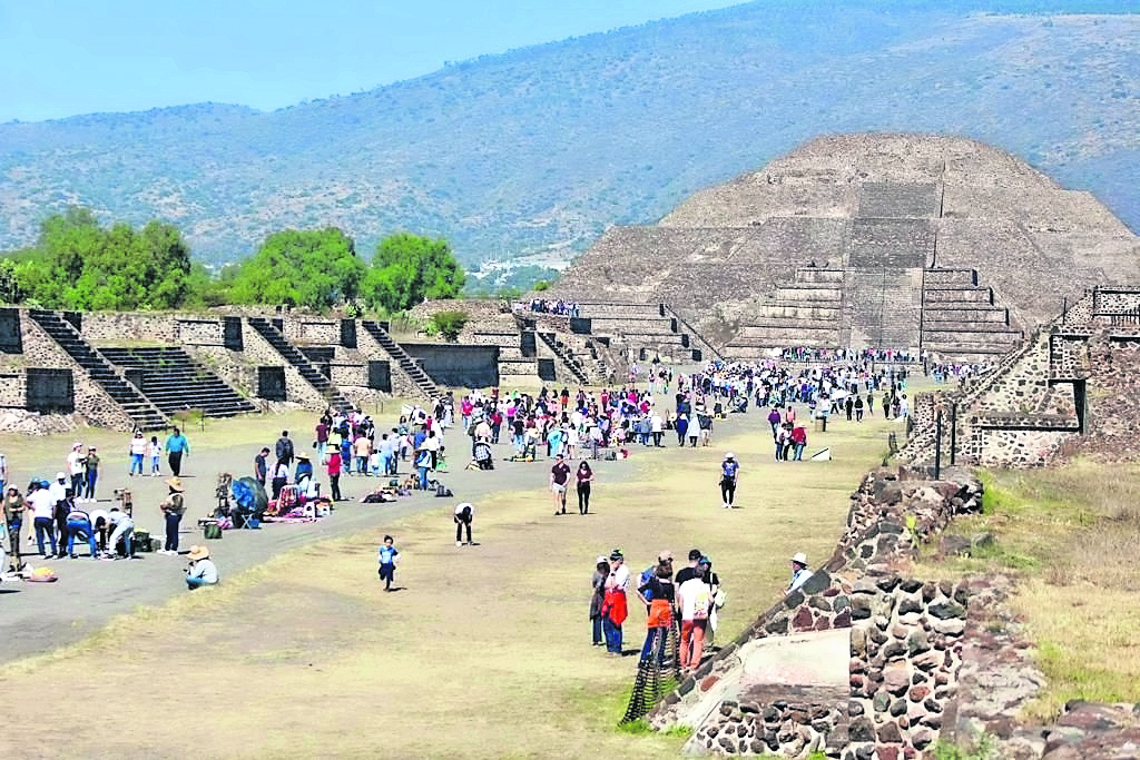
[[[958,390],[920,394],[901,459],[933,463],[934,409],[944,418],[948,456],[952,404],[958,404],[959,461],[1044,466],[1092,453],[1140,458],[1140,288],[1093,288],[1039,329],[987,376]],[[1084,430],[1077,407],[1084,383]],[[925,410],[929,409],[929,414]]]

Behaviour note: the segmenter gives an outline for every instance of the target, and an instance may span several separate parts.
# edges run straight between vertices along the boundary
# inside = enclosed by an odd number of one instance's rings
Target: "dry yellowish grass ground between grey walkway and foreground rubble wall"
[[[717,636],[727,640],[776,598],[793,551],[813,561],[830,554],[853,484],[878,464],[888,428],[895,430],[879,418],[813,434],[812,450],[833,447],[831,463],[772,461],[767,425],[755,412],[722,425],[715,448],[635,447],[632,460],[602,464],[596,514],[587,517],[552,516],[545,466],[504,468],[482,483],[499,490],[475,501],[475,547],[454,546],[450,500],[424,499],[401,505],[402,513],[345,509],[333,518],[340,525],[327,523],[328,540],[316,544],[306,526],[227,536],[217,545],[227,579],[207,593],[178,590],[181,563],[168,571],[160,564],[166,557],[99,563],[115,572],[162,566],[161,583],[153,582],[164,590],[152,593],[174,598],[0,670],[0,688],[22,703],[54,704],[66,695],[68,704],[66,722],[6,728],[0,753],[59,757],[63,746],[85,758],[182,755],[190,747],[205,757],[258,758],[676,754],[679,737],[614,730],[636,659],[606,659],[591,646],[595,555],[621,547],[637,572],[661,548],[683,556],[699,546],[728,593]],[[716,489],[725,448],[742,463],[735,510],[720,508]],[[466,479],[480,475],[453,475],[453,489],[465,498],[477,488]],[[286,530],[312,532],[299,538]],[[406,590],[397,594],[383,594],[376,581],[383,532],[404,553],[398,585]],[[261,563],[290,538],[295,548]],[[271,549],[275,540],[282,542]],[[227,570],[243,562],[251,570]],[[103,570],[91,564],[91,572]],[[65,591],[66,582],[42,595]],[[67,591],[79,598],[72,607],[95,606],[83,593]],[[121,604],[119,589],[87,593]],[[40,603],[50,607],[52,598]],[[644,637],[643,613],[633,607],[627,649]],[[107,714],[137,730],[97,730]]]

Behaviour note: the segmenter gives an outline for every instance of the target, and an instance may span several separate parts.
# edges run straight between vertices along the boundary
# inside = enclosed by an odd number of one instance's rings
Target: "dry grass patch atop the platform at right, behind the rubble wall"
[[[1076,461],[984,481],[986,514],[953,530],[997,542],[950,564],[1023,577],[1012,606],[1049,680],[1029,717],[1052,719],[1068,700],[1140,701],[1140,466]]]

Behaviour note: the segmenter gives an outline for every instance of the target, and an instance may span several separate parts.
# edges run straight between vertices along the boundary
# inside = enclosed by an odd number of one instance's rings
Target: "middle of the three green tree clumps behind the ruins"
[[[241,264],[233,303],[288,304],[325,311],[357,296],[365,276],[352,238],[339,229],[284,230]]]

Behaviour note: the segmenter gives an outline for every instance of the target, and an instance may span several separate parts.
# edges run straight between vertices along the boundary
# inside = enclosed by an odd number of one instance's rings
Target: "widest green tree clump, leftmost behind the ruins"
[[[17,289],[47,308],[173,309],[185,301],[190,250],[172,224],[99,226],[89,209],[49,216],[14,256]]]

